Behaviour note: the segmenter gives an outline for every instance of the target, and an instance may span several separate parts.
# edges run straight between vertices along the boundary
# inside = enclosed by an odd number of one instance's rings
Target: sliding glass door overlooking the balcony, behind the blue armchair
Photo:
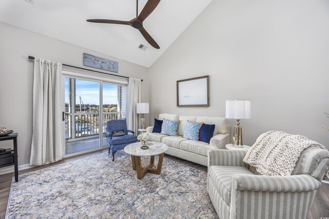
[[[122,117],[125,97],[123,106],[121,90],[125,87],[74,77],[65,77],[64,84],[65,154],[107,147],[106,122]]]

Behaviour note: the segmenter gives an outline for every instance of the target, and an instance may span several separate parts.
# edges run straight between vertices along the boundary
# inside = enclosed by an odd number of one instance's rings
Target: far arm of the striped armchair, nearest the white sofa
[[[243,162],[246,150],[209,150],[208,151],[208,168],[210,166],[238,166],[249,167]]]

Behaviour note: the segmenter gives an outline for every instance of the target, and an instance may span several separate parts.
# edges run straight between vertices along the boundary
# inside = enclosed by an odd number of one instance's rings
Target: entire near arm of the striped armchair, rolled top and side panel
[[[244,218],[250,213],[250,218],[306,218],[320,186],[306,174],[235,174],[231,178],[230,218]]]

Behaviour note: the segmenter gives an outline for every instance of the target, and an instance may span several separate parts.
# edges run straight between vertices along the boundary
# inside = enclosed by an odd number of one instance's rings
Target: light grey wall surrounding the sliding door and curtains
[[[149,102],[148,68],[0,23],[0,127],[19,132],[19,165],[29,163],[32,138],[33,61],[28,55],[88,68],[83,66],[84,52],[119,62],[119,75],[143,79],[142,101]],[[120,79],[74,68],[63,70]],[[1,148],[11,146],[9,142],[0,144]]]

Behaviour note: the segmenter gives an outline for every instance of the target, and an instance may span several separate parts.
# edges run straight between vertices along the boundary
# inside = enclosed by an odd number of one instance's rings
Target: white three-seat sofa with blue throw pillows
[[[159,120],[179,120],[177,130],[178,136],[169,136],[161,133],[152,133],[153,126],[147,128],[149,140],[153,142],[162,142],[169,146],[166,154],[182,158],[197,164],[207,166],[208,151],[211,149],[225,149],[225,145],[230,142],[230,129],[226,118],[223,117],[208,117],[208,116],[186,116],[176,114],[160,114]],[[204,122],[205,124],[215,125],[213,137],[210,144],[201,141],[192,141],[182,137],[186,122]]]

